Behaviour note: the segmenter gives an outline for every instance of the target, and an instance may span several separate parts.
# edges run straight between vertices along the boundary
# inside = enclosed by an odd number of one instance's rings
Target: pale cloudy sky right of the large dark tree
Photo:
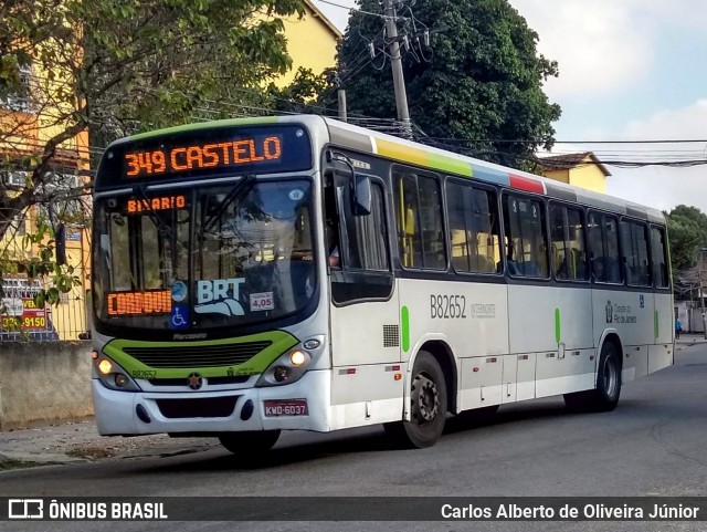
[[[354,7],[354,0],[330,0]],[[314,0],[341,31],[348,10]],[[707,160],[707,9],[701,0],[509,0],[559,63],[545,92],[562,107],[553,154],[592,150],[603,161]],[[414,10],[414,8],[413,8]],[[434,21],[424,21],[433,25]],[[562,140],[703,140],[562,144]],[[542,155],[542,154],[539,154]],[[612,174],[606,192],[661,210],[707,212],[707,165]]]

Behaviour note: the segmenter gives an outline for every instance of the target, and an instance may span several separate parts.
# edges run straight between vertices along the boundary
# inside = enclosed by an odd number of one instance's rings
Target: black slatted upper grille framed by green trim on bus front
[[[124,347],[123,351],[150,367],[238,366],[272,344],[270,341],[224,345]]]

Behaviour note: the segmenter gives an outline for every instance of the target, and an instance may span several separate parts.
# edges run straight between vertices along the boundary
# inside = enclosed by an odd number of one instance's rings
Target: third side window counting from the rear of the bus
[[[588,234],[592,279],[601,283],[622,283],[616,218],[590,212]]]

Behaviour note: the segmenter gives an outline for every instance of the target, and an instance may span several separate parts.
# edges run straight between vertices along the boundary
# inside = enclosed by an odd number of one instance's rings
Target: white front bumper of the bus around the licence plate
[[[102,436],[275,429],[326,432],[330,430],[330,383],[331,372],[327,369],[307,372],[296,383],[283,386],[155,393],[109,389],[94,378],[92,393]],[[266,413],[265,401],[278,403],[268,403]],[[272,405],[281,408],[273,409]]]

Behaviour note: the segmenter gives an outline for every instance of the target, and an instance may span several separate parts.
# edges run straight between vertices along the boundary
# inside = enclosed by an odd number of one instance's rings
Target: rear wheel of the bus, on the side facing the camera
[[[604,342],[599,355],[597,387],[589,392],[564,394],[568,408],[578,411],[611,411],[621,396],[621,356],[612,342]]]

